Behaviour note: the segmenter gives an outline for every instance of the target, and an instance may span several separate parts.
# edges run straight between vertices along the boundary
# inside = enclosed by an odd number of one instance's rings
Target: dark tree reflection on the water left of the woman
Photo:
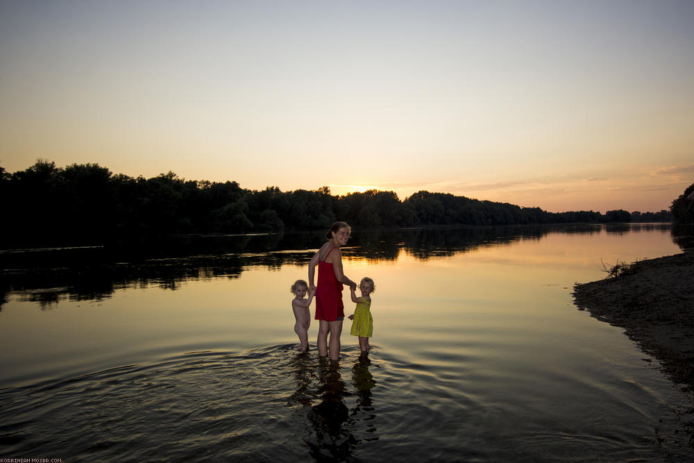
[[[159,242],[28,249],[0,253],[0,305],[14,292],[50,308],[63,298],[99,301],[121,288],[176,290],[186,280],[237,278],[246,267],[305,265],[316,233],[191,235]],[[296,251],[298,250],[298,251]]]

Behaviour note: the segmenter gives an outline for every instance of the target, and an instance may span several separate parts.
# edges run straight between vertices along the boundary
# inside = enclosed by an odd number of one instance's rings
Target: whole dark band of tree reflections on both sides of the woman
[[[670,228],[670,224],[506,226],[353,230],[344,249],[350,259],[396,260],[401,251],[428,260],[499,246],[550,233],[610,234]],[[691,247],[691,227],[672,228],[680,247]],[[99,301],[117,289],[155,286],[176,290],[186,280],[237,278],[248,267],[303,266],[324,241],[323,233],[189,235],[158,242],[0,253],[0,307],[14,292],[42,308],[62,298]]]

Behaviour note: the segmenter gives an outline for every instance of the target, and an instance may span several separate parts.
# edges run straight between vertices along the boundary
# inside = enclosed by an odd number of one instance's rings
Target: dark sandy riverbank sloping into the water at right
[[[694,249],[631,264],[627,274],[575,285],[581,310],[625,334],[694,392]]]

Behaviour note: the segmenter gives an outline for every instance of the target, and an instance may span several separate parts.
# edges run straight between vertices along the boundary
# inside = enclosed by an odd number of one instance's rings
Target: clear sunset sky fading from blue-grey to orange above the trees
[[[659,211],[694,1],[0,2],[0,166]]]

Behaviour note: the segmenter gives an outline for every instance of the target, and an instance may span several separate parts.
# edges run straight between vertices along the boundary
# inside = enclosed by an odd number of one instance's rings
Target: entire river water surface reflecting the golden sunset
[[[63,461],[688,459],[691,397],[577,310],[667,226],[354,230],[374,346],[292,351],[321,234],[0,253],[0,456]],[[7,269],[12,269],[8,271]],[[353,303],[345,293],[346,313]],[[312,307],[313,312],[313,307]]]

